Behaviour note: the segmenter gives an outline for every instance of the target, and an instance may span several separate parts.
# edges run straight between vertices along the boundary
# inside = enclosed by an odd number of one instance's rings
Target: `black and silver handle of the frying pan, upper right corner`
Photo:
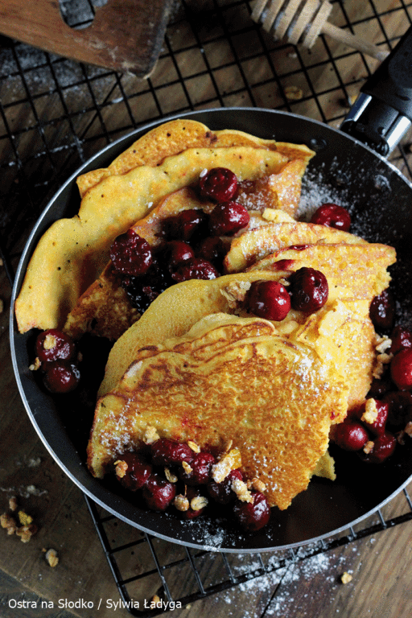
[[[364,86],[341,125],[387,157],[412,123],[412,27]]]

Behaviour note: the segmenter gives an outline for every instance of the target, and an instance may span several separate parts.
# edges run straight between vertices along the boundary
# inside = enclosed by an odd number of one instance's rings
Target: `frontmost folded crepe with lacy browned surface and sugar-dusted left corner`
[[[339,350],[336,348],[339,356]],[[98,402],[88,447],[102,477],[148,426],[220,453],[232,441],[249,479],[285,509],[305,490],[347,411],[347,384],[310,345],[278,336],[271,322],[215,315],[181,338],[137,354],[117,388]]]

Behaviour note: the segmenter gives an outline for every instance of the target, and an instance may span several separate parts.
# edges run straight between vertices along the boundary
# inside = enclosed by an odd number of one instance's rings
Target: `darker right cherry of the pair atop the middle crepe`
[[[299,311],[313,313],[328,300],[328,279],[314,268],[299,268],[289,277],[292,307]]]

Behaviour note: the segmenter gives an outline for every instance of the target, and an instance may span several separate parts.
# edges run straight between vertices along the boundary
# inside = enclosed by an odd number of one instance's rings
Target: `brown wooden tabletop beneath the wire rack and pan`
[[[211,4],[214,3],[211,2]],[[226,6],[236,3],[222,2],[220,4]],[[338,5],[345,8],[346,14],[350,16],[353,23],[359,22],[355,29],[358,34],[365,34],[369,37],[369,41],[375,43],[382,43],[383,40],[380,21],[384,23],[385,32],[390,37],[399,37],[408,25],[407,16],[409,13],[412,14],[411,5],[403,1],[346,0],[334,5],[332,15],[336,16],[338,22],[343,19],[343,13],[338,11]],[[198,6],[194,5],[195,12],[196,9]],[[376,13],[379,19],[376,18]],[[362,21],[364,16],[371,16],[371,21],[364,23]],[[243,76],[239,76],[238,73],[233,76],[235,69],[227,60],[235,53],[233,39],[231,39],[232,46],[228,48],[229,39],[225,36],[225,31],[222,31],[221,36],[213,38],[211,32],[216,25],[212,27],[209,24],[207,34],[211,42],[207,49],[203,45],[203,52],[199,57],[195,54],[196,45],[198,47],[202,45],[200,39],[196,41],[196,36],[193,36],[194,23],[192,22],[191,43],[189,43],[184,21],[178,20],[176,25],[171,25],[168,31],[168,46],[163,49],[163,55],[149,82],[150,88],[155,89],[157,93],[157,100],[160,101],[159,105],[163,113],[173,112],[179,107],[179,97],[183,95],[176,91],[176,84],[179,85],[181,79],[186,80],[184,83],[187,91],[190,91],[194,107],[218,106],[215,95],[213,95],[216,88],[222,91],[225,89],[225,104],[227,105],[250,104],[247,97],[251,96],[251,93],[248,88],[239,87],[237,81],[244,80],[246,73]],[[200,21],[196,24],[197,34],[200,36],[199,33],[202,32],[204,25]],[[249,25],[246,24],[245,32],[240,27],[239,36],[250,41],[251,34],[247,31],[247,27]],[[183,41],[187,41],[187,47]],[[266,38],[266,45],[270,45],[268,41],[269,39]],[[246,79],[249,82],[255,80],[253,81],[253,102],[260,106],[279,106],[284,101],[279,84],[282,84],[282,87],[292,84],[303,89],[303,95],[301,100],[293,104],[289,102],[291,111],[319,118],[319,100],[321,100],[322,112],[330,124],[339,124],[339,118],[345,113],[345,102],[342,103],[343,94],[346,96],[356,93],[366,76],[365,67],[369,70],[376,66],[376,61],[362,58],[359,54],[345,55],[345,49],[338,44],[330,43],[328,47],[325,43],[319,42],[312,52],[299,49],[298,55],[292,47],[277,48],[274,43],[272,45],[271,58],[275,62],[277,76],[281,76],[276,82],[277,89],[273,87],[273,73],[271,73],[271,79],[266,80],[264,71],[269,69],[262,66],[260,58],[249,56],[242,64],[244,71],[249,71]],[[385,48],[385,45],[382,45],[382,48]],[[176,63],[172,62],[176,60],[176,56],[171,58],[170,49],[180,50],[177,68]],[[197,66],[196,63],[204,60],[205,52],[208,54],[207,70],[203,71],[198,68],[196,72],[194,67]],[[5,49],[3,56],[7,53],[8,50]],[[30,56],[30,54],[27,55]],[[325,61],[326,56],[330,58],[330,62]],[[316,98],[314,98],[313,91],[308,92],[308,74],[302,71],[301,64],[299,67],[294,64],[298,60],[303,62],[306,69],[309,67],[310,84],[317,94]],[[67,66],[74,75],[77,70],[76,65],[73,63]],[[212,73],[216,80],[222,80],[217,85],[216,81],[211,80],[210,67],[213,70],[214,67],[225,69],[224,75],[219,78],[216,77],[217,69],[216,73]],[[338,67],[337,73],[336,67]],[[272,71],[272,68],[270,70]],[[177,71],[177,77],[174,79],[172,78],[173,71]],[[192,80],[189,79],[191,71],[196,72],[197,90],[190,90],[193,85]],[[336,83],[336,75],[339,76],[341,82],[337,80]],[[13,126],[10,124],[12,123],[11,117],[8,118],[10,131],[18,127],[21,129],[31,122],[30,114],[27,113],[27,97],[21,94],[21,90],[18,91],[15,80],[14,75],[8,80],[4,79],[0,90],[3,109],[6,112],[9,109],[14,112]],[[33,82],[29,80],[30,73],[25,73],[25,88],[31,89],[33,94],[35,86],[39,87],[40,73],[37,73],[37,84],[34,80]],[[119,86],[118,83],[117,86]],[[19,88],[22,88],[21,83]],[[87,108],[87,104],[85,100],[80,99],[86,98],[84,92],[87,88],[89,88],[89,82],[83,89],[79,86],[76,92],[71,93],[70,89],[65,91],[65,94],[67,93],[66,113],[71,115],[71,126],[76,122],[79,126],[81,122],[85,122],[85,113],[80,113],[80,108],[82,106]],[[152,112],[147,107],[142,108],[141,104],[133,106],[133,97],[141,102],[143,99],[140,100],[137,95],[145,91],[146,96],[147,90],[146,82],[142,84],[135,78],[127,76],[122,80],[122,90],[115,91],[113,88],[111,106],[102,108],[102,113],[104,124],[113,132],[114,137],[122,131],[119,128],[119,133],[116,133],[117,127],[122,126],[119,116],[126,115],[126,112],[135,116],[135,124],[150,118]],[[38,92],[36,91],[36,95]],[[168,94],[172,92],[173,95]],[[126,93],[126,97],[129,98],[131,107],[126,111],[125,108],[119,110],[112,104],[116,96],[120,97],[119,93],[122,96]],[[39,96],[36,99],[38,119],[53,118],[53,110],[56,109],[57,104],[56,93],[42,98]],[[93,109],[91,112],[94,113]],[[7,123],[5,126],[7,128]],[[49,123],[47,130],[52,132],[52,139],[54,139],[55,150],[53,152],[58,152],[59,144],[65,144],[65,132],[61,122]],[[103,140],[93,141],[86,131],[83,135],[86,136],[83,142],[86,157],[104,145]],[[21,132],[21,136],[24,139],[21,137],[19,149],[23,159],[30,150],[36,152],[36,148],[41,149],[34,138],[30,137],[29,130],[24,135]],[[1,144],[4,144],[4,141]],[[3,160],[10,156],[7,148],[3,148],[1,152]],[[27,161],[29,159],[30,157]],[[36,157],[30,159],[31,165],[34,165],[33,160],[36,160]],[[73,163],[74,168],[76,165],[78,163]],[[402,168],[402,163],[400,167]],[[40,166],[38,169],[40,170]],[[69,172],[71,172],[70,168],[63,170],[61,181],[69,176]],[[45,172],[39,172],[41,173]],[[6,179],[5,174],[3,179]],[[10,181],[8,194],[17,190],[16,187],[18,188],[15,178],[14,181]],[[44,192],[42,200],[46,196],[47,192]],[[4,217],[7,218],[5,215]],[[21,236],[21,240],[19,238],[13,240],[12,264],[14,266],[21,244],[31,225],[32,221],[28,220],[27,229]],[[12,236],[12,233],[9,233],[9,238],[10,234]],[[127,610],[118,605],[119,592],[95,532],[84,496],[60,470],[43,446],[19,397],[9,349],[10,295],[8,277],[5,268],[1,267],[0,298],[4,309],[0,314],[0,512],[7,510],[10,496],[17,496],[20,507],[34,517],[38,532],[30,542],[23,543],[19,537],[8,536],[5,530],[0,529],[0,616],[1,618],[126,617],[129,614]],[[409,490],[412,490],[412,485]],[[410,510],[401,492],[396,499],[384,507],[382,514],[385,520],[389,520]],[[371,518],[370,525],[376,523],[376,520],[376,516]],[[368,522],[363,525],[366,527]],[[113,534],[120,534],[120,528],[124,525],[119,523],[117,526],[117,523],[114,523],[113,526]],[[124,538],[128,538],[128,535],[130,538],[135,538],[137,532],[122,529],[121,534]],[[53,568],[45,560],[45,550],[50,548],[56,549],[59,556],[59,562]],[[124,560],[127,560],[128,567],[135,573],[139,573],[139,570],[144,568],[144,565],[139,564],[140,559],[132,550],[127,553]],[[219,568],[218,560],[216,556],[215,569]],[[244,564],[242,562],[239,568],[241,569],[243,565],[244,569],[253,571],[256,558],[249,556],[242,560]],[[185,607],[174,608],[170,610],[170,615],[176,618],[192,618],[199,615],[213,615],[215,618],[220,616],[233,618],[315,618],[320,616],[322,618],[334,616],[339,618],[404,618],[412,614],[411,567],[412,521],[407,520],[399,525],[376,531],[365,538],[345,543],[342,547],[329,549],[312,558],[290,562],[283,569],[269,575],[251,578],[229,590],[208,595]],[[213,567],[210,568],[213,570]],[[344,584],[341,581],[343,573],[352,575],[352,580]],[[177,573],[174,577],[178,581],[183,575]],[[140,598],[146,598],[146,601],[150,603],[153,595],[157,593],[157,586],[155,580],[145,583],[144,588],[139,590]]]

